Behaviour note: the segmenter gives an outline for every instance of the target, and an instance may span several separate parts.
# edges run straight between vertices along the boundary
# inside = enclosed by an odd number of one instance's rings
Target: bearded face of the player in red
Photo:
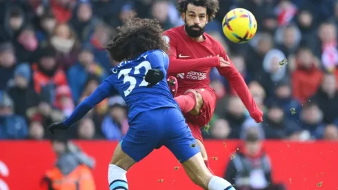
[[[208,15],[206,8],[194,6],[191,3],[188,5],[186,13],[182,15],[185,23],[185,29],[188,36],[192,38],[203,35],[204,27],[208,23]]]

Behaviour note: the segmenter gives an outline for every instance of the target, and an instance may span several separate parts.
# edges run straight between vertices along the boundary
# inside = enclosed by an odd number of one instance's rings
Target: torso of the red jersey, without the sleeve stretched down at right
[[[184,26],[171,28],[163,34],[170,46],[168,77],[174,76],[179,82],[177,95],[188,89],[210,88],[210,70],[219,66],[217,55],[226,59],[221,44],[207,33],[203,35],[204,41],[194,41],[188,37]]]

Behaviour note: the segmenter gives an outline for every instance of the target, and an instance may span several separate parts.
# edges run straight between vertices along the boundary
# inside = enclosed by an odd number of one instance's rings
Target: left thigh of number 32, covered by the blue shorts
[[[140,113],[130,123],[128,132],[120,142],[122,151],[139,162],[160,147],[163,137],[162,120],[158,110]]]

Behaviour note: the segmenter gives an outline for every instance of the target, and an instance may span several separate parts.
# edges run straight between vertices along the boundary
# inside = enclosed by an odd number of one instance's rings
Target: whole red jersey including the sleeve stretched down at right
[[[192,40],[184,30],[184,26],[171,28],[163,33],[163,38],[168,42],[169,68],[168,77],[174,76],[179,83],[177,95],[184,94],[188,89],[210,89],[210,70],[217,67],[219,74],[228,79],[241,101],[256,121],[261,117],[261,111],[252,98],[241,74],[231,63],[226,51],[221,44],[207,33],[203,34],[205,40],[197,42]],[[219,57],[230,62],[230,66],[219,67]]]

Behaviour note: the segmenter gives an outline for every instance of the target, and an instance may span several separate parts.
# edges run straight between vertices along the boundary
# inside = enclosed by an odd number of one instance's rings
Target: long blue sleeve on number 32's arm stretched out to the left
[[[106,79],[90,96],[86,97],[86,99],[84,99],[83,102],[81,102],[79,106],[75,108],[73,113],[63,121],[63,124],[69,127],[72,126],[74,123],[81,120],[81,118],[86,115],[88,111],[90,111],[94,106],[99,104],[99,102],[109,97],[114,90],[115,88]]]

